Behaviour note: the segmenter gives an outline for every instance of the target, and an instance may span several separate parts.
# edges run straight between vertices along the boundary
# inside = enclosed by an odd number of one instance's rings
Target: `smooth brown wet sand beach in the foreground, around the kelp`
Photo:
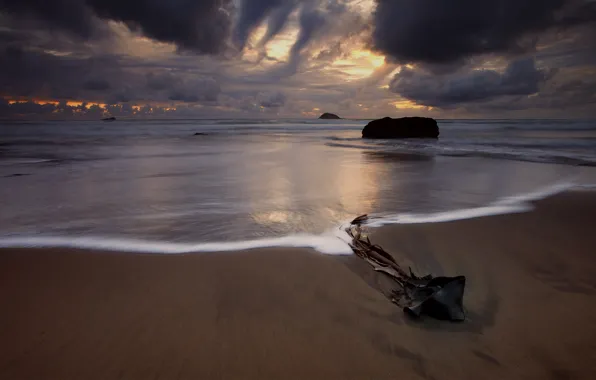
[[[355,256],[0,250],[0,379],[593,379],[595,231],[593,192],[374,230],[467,277],[460,324],[407,319]]]

